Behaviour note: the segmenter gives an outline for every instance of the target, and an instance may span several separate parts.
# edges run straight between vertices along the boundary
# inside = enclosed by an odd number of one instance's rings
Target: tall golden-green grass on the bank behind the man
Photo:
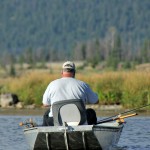
[[[104,71],[91,67],[81,69],[82,63],[76,64],[76,78],[91,86],[98,94],[100,105],[118,104],[127,109],[150,104],[149,70]],[[46,69],[25,69],[15,77],[0,77],[0,94],[14,93],[24,105],[41,106],[47,85],[61,77],[61,65],[47,64]]]

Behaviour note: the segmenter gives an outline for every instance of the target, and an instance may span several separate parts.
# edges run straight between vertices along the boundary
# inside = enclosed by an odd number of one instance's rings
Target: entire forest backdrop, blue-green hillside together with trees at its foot
[[[150,62],[149,0],[1,0],[0,64]]]

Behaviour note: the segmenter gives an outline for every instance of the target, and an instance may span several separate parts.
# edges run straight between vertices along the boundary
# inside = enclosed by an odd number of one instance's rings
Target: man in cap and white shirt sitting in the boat
[[[94,93],[88,84],[75,79],[76,68],[75,64],[67,61],[62,66],[62,78],[52,81],[44,95],[43,105],[50,107],[43,116],[43,126],[53,126],[53,103],[63,100],[80,99],[85,104],[98,103],[98,96]],[[69,113],[69,112],[68,112]],[[93,109],[86,109],[86,118],[88,124],[96,124],[97,117]]]

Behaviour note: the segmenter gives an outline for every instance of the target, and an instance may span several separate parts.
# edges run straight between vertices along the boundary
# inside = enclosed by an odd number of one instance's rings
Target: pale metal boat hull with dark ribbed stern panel
[[[120,138],[123,125],[49,126],[24,129],[31,150],[110,150]]]

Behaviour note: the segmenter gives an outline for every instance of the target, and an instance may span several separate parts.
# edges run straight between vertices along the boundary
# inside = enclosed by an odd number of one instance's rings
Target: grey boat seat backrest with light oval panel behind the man
[[[81,99],[63,100],[53,103],[54,125],[82,125],[86,122],[86,109]]]

